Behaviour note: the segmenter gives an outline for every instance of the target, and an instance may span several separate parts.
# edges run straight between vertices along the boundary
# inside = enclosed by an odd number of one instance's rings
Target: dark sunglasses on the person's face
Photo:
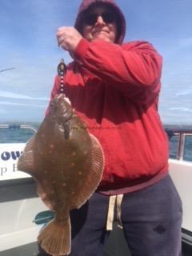
[[[98,21],[99,16],[102,16],[105,23],[113,23],[116,21],[114,12],[112,11],[105,11],[102,14],[85,14],[83,21],[86,25],[93,26]]]

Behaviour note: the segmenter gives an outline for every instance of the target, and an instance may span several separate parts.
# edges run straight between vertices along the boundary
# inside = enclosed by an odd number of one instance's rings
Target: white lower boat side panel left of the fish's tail
[[[33,222],[34,216],[46,210],[39,198],[2,202],[0,207],[0,251],[37,241],[42,226]]]

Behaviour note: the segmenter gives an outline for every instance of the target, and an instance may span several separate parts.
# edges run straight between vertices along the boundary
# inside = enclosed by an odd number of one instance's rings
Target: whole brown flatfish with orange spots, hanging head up
[[[89,134],[65,95],[56,95],[50,113],[18,159],[18,170],[36,180],[39,196],[55,212],[38,235],[47,253],[70,254],[70,210],[82,206],[94,193],[103,166],[98,139]]]

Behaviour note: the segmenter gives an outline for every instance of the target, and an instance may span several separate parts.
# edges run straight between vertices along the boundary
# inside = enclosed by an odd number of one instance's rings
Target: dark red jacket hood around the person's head
[[[78,15],[74,23],[74,27],[82,34],[82,14],[84,11],[90,8],[90,6],[98,2],[112,7],[118,15],[118,35],[115,42],[121,45],[126,34],[126,19],[124,14],[122,14],[122,10],[120,10],[114,0],[83,0],[82,4],[79,6]]]

